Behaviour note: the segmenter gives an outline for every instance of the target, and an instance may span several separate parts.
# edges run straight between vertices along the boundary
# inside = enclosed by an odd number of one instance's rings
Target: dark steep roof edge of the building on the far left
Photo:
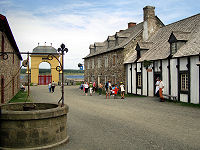
[[[19,52],[19,49],[18,49],[17,44],[16,44],[16,42],[15,42],[15,38],[14,38],[14,36],[13,36],[13,34],[12,34],[12,31],[11,31],[11,29],[10,29],[10,26],[9,26],[9,24],[8,24],[8,21],[7,21],[6,17],[3,16],[3,15],[1,15],[1,14],[0,14],[0,25],[2,25],[3,28],[5,29],[5,30],[4,30],[4,33],[6,34],[6,36],[7,36],[8,40],[9,40],[11,46],[12,46],[13,49],[15,50],[16,55],[18,56],[18,58],[19,58],[20,60],[22,60],[22,56],[21,56],[21,54],[20,54],[20,52]]]

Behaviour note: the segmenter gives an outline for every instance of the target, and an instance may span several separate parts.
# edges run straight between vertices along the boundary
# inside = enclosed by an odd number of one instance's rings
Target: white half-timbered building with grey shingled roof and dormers
[[[126,61],[128,93],[154,96],[155,79],[166,98],[200,104],[200,14],[160,28],[137,43]]]

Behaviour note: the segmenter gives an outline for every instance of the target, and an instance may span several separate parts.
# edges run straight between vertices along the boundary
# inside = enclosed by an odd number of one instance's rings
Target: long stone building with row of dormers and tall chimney
[[[124,63],[131,59],[130,55],[134,53],[137,42],[148,39],[163,26],[155,16],[155,7],[146,6],[143,11],[143,22],[130,22],[126,30],[120,30],[108,36],[104,42],[95,42],[89,46],[90,53],[84,58],[86,81],[104,84],[111,80],[112,84],[126,84]]]

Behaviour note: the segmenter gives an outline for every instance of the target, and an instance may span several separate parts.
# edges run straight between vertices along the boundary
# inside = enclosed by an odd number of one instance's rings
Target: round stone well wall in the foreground
[[[68,141],[68,106],[34,105],[31,111],[23,111],[23,103],[2,105],[0,149],[44,149]]]

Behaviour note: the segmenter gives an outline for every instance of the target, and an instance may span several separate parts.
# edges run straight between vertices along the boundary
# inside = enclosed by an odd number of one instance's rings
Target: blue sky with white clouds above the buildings
[[[127,29],[128,22],[142,22],[147,5],[155,6],[165,25],[200,13],[200,0],[0,0],[0,14],[21,52],[32,52],[38,43],[56,49],[64,43],[64,68],[79,69],[90,44]]]

